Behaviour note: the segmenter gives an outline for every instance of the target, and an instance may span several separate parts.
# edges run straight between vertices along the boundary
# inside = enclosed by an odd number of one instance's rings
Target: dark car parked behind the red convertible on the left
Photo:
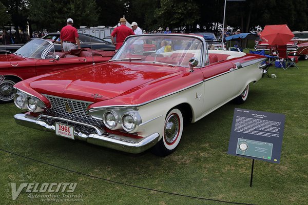
[[[60,33],[48,33],[42,37],[43,39],[49,39],[52,43],[54,43],[54,50],[55,51],[62,51],[61,44],[60,44]],[[81,48],[91,48],[95,50],[104,50],[104,51],[114,51],[115,46],[112,43],[107,42],[106,40],[100,39],[98,37],[79,33],[79,41]],[[1,45],[1,50],[9,50],[11,52],[17,51],[20,49],[24,44],[10,44],[10,45]],[[77,48],[77,45],[76,45]]]

